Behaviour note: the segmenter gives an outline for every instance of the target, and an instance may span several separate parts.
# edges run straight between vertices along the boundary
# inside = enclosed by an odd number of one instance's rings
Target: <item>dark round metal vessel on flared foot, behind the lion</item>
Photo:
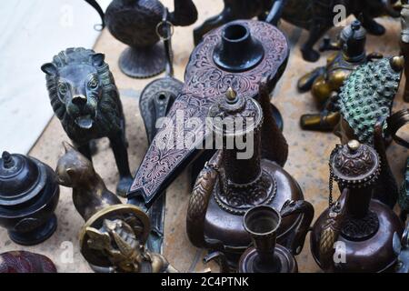
[[[165,70],[165,51],[156,34],[164,11],[157,0],[114,0],[106,9],[110,33],[129,45],[119,58],[119,67],[126,75],[146,78]],[[169,16],[173,25],[192,25],[197,10],[192,0],[175,0],[175,11]]]

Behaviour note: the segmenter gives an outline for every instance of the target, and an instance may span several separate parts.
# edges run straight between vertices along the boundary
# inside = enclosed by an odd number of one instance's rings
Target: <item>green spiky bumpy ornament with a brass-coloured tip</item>
[[[361,143],[372,145],[376,121],[391,114],[403,68],[403,57],[383,58],[359,66],[344,81],[337,105]]]

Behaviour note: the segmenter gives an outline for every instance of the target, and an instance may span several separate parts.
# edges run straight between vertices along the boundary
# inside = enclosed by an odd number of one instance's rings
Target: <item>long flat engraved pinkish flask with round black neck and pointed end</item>
[[[264,57],[252,62],[256,65],[244,65],[243,70],[238,71],[228,69],[228,65],[232,64],[224,62],[223,58],[219,58],[222,62],[216,65],[214,51],[224,43],[225,39],[222,39],[226,35],[234,37],[227,42],[237,43],[237,50],[241,50],[243,42],[250,43],[251,45],[246,46],[250,48],[254,44],[262,45]],[[248,39],[251,42],[248,42]],[[185,166],[203,154],[203,146],[196,145],[202,145],[205,139],[205,117],[210,106],[224,95],[229,87],[238,95],[257,97],[262,79],[265,80],[268,92],[271,92],[284,73],[288,54],[285,36],[273,25],[263,22],[236,21],[207,34],[191,55],[185,71],[185,86],[167,115],[173,125],[176,125],[177,120],[182,120],[184,126],[163,126],[158,130],[136,172],[128,195],[129,201],[143,201],[150,206]],[[271,110],[271,107],[266,110]],[[193,117],[198,121],[197,125],[189,125],[187,122]],[[264,125],[270,126],[271,123]],[[268,132],[267,129],[266,131]],[[198,137],[194,145],[186,145],[180,142],[185,141],[185,136]],[[169,141],[165,148],[161,146],[164,139]],[[286,155],[283,156],[285,161]]]

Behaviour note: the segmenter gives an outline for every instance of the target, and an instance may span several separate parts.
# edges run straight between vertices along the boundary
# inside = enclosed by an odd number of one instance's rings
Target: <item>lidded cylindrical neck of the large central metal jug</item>
[[[216,145],[223,144],[225,177],[236,185],[254,182],[261,175],[261,106],[229,89],[209,117]]]

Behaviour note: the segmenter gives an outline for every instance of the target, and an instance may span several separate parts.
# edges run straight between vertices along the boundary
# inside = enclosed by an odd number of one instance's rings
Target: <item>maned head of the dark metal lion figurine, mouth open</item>
[[[105,55],[67,48],[41,69],[55,115],[75,142],[119,128],[122,105]]]

